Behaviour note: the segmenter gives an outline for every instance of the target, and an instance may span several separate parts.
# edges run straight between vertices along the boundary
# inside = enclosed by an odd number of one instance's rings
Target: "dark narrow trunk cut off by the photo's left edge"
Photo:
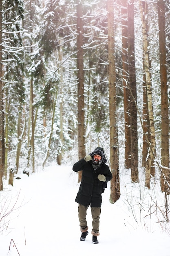
[[[2,1],[0,1],[0,191],[3,190],[2,177],[4,173],[4,154],[3,154],[3,95],[2,95]]]

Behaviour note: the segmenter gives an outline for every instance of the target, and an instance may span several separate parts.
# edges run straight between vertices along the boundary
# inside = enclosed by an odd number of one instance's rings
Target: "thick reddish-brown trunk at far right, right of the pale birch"
[[[161,190],[170,192],[170,168],[169,168],[169,117],[168,117],[168,86],[166,70],[166,34],[165,34],[165,1],[158,0],[159,18],[159,58],[161,73],[161,165],[162,169]]]

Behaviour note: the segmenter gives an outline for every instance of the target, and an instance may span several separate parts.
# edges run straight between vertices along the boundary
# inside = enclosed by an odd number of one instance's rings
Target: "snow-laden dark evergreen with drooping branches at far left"
[[[4,64],[3,91],[5,95],[5,171],[7,170],[7,153],[9,135],[15,134],[13,145],[18,145],[20,140],[20,130],[22,123],[15,117],[22,115],[23,103],[25,99],[24,87],[24,58],[22,42],[22,19],[23,2],[22,1],[3,1],[2,2],[2,59]],[[9,115],[10,113],[10,115]],[[21,117],[21,116],[20,116]],[[18,128],[15,121],[18,122]]]

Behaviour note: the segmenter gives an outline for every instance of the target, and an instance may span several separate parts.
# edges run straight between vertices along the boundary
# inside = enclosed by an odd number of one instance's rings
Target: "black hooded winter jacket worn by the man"
[[[84,158],[73,165],[73,171],[82,171],[82,181],[75,202],[88,207],[101,207],[103,183],[97,179],[99,174],[106,176],[106,182],[112,179],[112,173],[106,164],[97,170],[93,169],[92,161],[86,162]]]

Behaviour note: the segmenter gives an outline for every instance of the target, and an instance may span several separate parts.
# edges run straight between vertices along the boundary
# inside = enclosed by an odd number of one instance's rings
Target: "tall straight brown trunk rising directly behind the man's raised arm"
[[[77,0],[77,79],[78,79],[78,153],[79,159],[85,156],[85,124],[84,124],[84,63],[83,63],[83,22],[82,4]],[[78,182],[82,180],[79,171]]]

